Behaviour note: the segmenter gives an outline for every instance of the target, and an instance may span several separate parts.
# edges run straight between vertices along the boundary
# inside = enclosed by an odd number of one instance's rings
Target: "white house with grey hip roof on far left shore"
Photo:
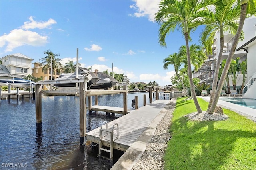
[[[26,55],[23,55],[21,53],[15,53],[11,55],[6,55],[0,58],[0,60],[2,60],[2,65],[6,66],[6,68],[14,77],[22,78],[24,76],[27,76],[28,74],[32,74],[31,63],[34,59],[31,59]]]

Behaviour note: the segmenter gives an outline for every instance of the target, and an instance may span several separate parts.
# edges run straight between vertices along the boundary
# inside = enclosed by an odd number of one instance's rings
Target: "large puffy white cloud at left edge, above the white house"
[[[14,29],[9,34],[0,37],[0,47],[7,44],[5,52],[10,52],[22,45],[42,46],[48,42],[48,36],[41,36],[36,32]]]

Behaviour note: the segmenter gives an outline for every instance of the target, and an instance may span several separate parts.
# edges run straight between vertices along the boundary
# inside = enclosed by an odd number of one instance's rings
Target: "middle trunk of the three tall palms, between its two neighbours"
[[[210,107],[212,106],[212,101],[214,99],[214,96],[215,96],[215,93],[216,93],[216,88],[217,88],[217,83],[218,83],[218,75],[219,75],[219,71],[220,71],[221,57],[222,57],[223,47],[224,47],[224,35],[223,35],[222,27],[220,28],[220,33],[222,33],[222,35],[220,35],[220,53],[218,55],[216,66],[215,66],[213,82],[212,82],[212,92],[211,92],[211,95],[210,95],[210,101],[209,101],[209,104],[208,104],[207,112],[209,111]]]

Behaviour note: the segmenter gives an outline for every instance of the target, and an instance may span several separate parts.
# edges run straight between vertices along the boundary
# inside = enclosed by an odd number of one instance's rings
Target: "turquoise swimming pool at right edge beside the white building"
[[[244,99],[244,98],[219,98],[219,100],[223,100],[226,102],[239,104],[245,107],[250,107],[252,109],[256,109],[256,99]]]

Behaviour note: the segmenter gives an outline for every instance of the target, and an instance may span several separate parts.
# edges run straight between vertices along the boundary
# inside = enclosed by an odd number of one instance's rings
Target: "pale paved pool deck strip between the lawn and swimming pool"
[[[210,100],[209,96],[198,96],[198,97],[204,99],[207,102],[209,102],[209,100]],[[251,119],[252,121],[256,122],[256,109],[241,106],[238,104],[233,104],[233,103],[226,102],[223,100],[218,100],[218,106],[221,106],[222,108],[225,108],[225,109],[235,111],[236,113],[243,115],[243,116],[247,117],[248,119]]]

